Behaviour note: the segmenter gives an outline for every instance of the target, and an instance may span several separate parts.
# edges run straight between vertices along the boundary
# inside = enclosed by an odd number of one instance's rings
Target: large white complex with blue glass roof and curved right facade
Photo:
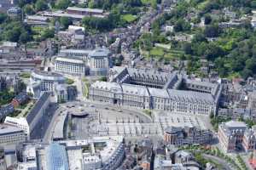
[[[124,160],[123,137],[61,140],[36,147],[38,169],[115,170]]]

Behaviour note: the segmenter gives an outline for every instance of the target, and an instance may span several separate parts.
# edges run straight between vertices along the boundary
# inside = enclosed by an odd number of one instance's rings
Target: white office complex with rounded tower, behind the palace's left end
[[[109,54],[107,48],[61,50],[55,58],[55,71],[72,75],[107,76],[112,66]]]

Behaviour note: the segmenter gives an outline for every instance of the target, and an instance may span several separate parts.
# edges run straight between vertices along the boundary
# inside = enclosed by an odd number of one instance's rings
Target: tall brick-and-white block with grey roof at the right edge
[[[218,125],[219,144],[225,152],[252,151],[256,144],[256,128],[248,128],[244,122],[224,122]]]

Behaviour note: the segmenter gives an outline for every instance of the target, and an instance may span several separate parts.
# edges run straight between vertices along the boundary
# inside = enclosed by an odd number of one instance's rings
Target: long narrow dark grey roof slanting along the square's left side
[[[26,116],[26,121],[28,124],[31,124],[34,117],[37,116],[38,112],[41,110],[42,106],[44,103],[49,99],[50,93],[49,92],[44,92],[38,99],[37,103],[33,106],[32,111],[28,113]]]

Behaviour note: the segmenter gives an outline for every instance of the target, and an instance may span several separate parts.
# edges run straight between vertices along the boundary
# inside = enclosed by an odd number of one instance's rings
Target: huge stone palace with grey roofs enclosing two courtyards
[[[90,86],[89,98],[139,109],[209,115],[216,113],[222,86],[190,80],[176,72],[114,67],[109,82]]]

